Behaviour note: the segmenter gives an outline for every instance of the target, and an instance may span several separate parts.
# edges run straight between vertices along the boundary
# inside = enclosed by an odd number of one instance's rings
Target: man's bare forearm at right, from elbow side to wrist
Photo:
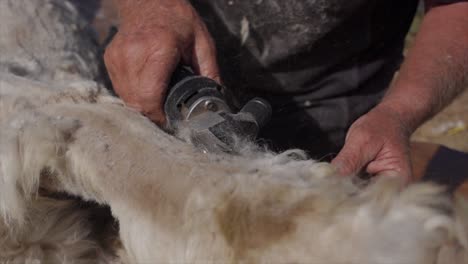
[[[395,111],[409,132],[468,87],[468,3],[426,14],[402,68],[379,105]]]

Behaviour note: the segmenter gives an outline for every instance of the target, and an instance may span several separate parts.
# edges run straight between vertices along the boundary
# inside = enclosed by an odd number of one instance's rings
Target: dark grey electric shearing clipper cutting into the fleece
[[[270,104],[261,98],[234,111],[232,96],[222,85],[178,67],[172,76],[164,104],[167,126],[175,131],[183,122],[192,143],[204,152],[236,153],[236,143],[255,139],[270,119]]]

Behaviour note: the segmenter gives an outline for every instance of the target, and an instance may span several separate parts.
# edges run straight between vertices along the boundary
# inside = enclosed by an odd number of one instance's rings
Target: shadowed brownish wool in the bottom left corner
[[[21,227],[0,222],[0,263],[87,263],[100,254],[76,202],[37,198],[26,209]]]

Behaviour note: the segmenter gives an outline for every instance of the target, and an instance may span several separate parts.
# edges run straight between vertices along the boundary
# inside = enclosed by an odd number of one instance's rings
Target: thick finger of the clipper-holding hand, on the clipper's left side
[[[166,122],[164,101],[172,73],[180,60],[176,45],[154,47],[140,68],[138,76],[138,110],[159,125]]]

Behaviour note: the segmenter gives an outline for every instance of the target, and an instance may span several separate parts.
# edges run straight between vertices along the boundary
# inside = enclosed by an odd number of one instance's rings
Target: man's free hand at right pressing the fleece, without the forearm
[[[345,146],[332,161],[343,175],[366,171],[371,175],[411,180],[410,130],[399,114],[377,106],[348,131]]]

